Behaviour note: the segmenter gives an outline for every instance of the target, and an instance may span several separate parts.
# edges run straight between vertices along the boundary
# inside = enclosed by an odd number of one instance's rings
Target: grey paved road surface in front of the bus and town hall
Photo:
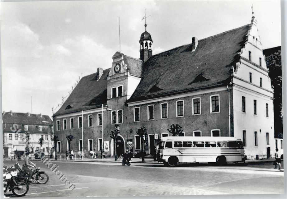
[[[5,165],[15,161],[4,161]],[[21,161],[20,161],[21,163]],[[284,193],[284,172],[272,163],[247,165],[163,164],[132,162],[57,162],[59,170],[77,188],[74,192],[40,161],[34,161],[49,175],[45,185],[32,184],[25,197],[155,196],[202,194]],[[13,195],[8,192],[8,197]]]

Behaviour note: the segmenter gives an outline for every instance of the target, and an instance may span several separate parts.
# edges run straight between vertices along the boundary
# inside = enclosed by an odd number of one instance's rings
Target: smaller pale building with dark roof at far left
[[[31,113],[2,113],[3,115],[3,150],[4,157],[10,157],[15,151],[24,154],[28,146],[30,152],[42,149],[48,155],[54,147],[53,121],[48,115]],[[17,133],[18,132],[18,133]],[[17,136],[17,134],[23,136]],[[27,139],[23,139],[28,137]],[[39,139],[43,138],[42,147]],[[30,145],[28,144],[30,143]]]

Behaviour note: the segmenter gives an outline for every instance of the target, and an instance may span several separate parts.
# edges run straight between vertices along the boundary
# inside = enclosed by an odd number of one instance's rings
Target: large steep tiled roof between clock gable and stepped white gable
[[[144,63],[142,80],[128,102],[226,85],[249,28],[201,39],[194,52],[187,44],[153,55]]]

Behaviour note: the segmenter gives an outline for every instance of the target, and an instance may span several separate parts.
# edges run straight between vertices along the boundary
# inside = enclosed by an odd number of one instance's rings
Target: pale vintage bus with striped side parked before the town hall
[[[244,162],[243,143],[234,137],[162,137],[160,161],[173,167],[177,163]]]

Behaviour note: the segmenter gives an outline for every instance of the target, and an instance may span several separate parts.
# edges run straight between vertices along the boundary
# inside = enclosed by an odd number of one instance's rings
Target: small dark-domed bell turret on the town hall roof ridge
[[[144,26],[147,27],[147,24],[145,24]],[[140,35],[139,44],[140,44],[139,49],[140,59],[143,60],[143,62],[146,62],[148,58],[153,56],[153,49],[152,49],[153,40],[152,36],[147,32],[147,30],[145,30]]]

